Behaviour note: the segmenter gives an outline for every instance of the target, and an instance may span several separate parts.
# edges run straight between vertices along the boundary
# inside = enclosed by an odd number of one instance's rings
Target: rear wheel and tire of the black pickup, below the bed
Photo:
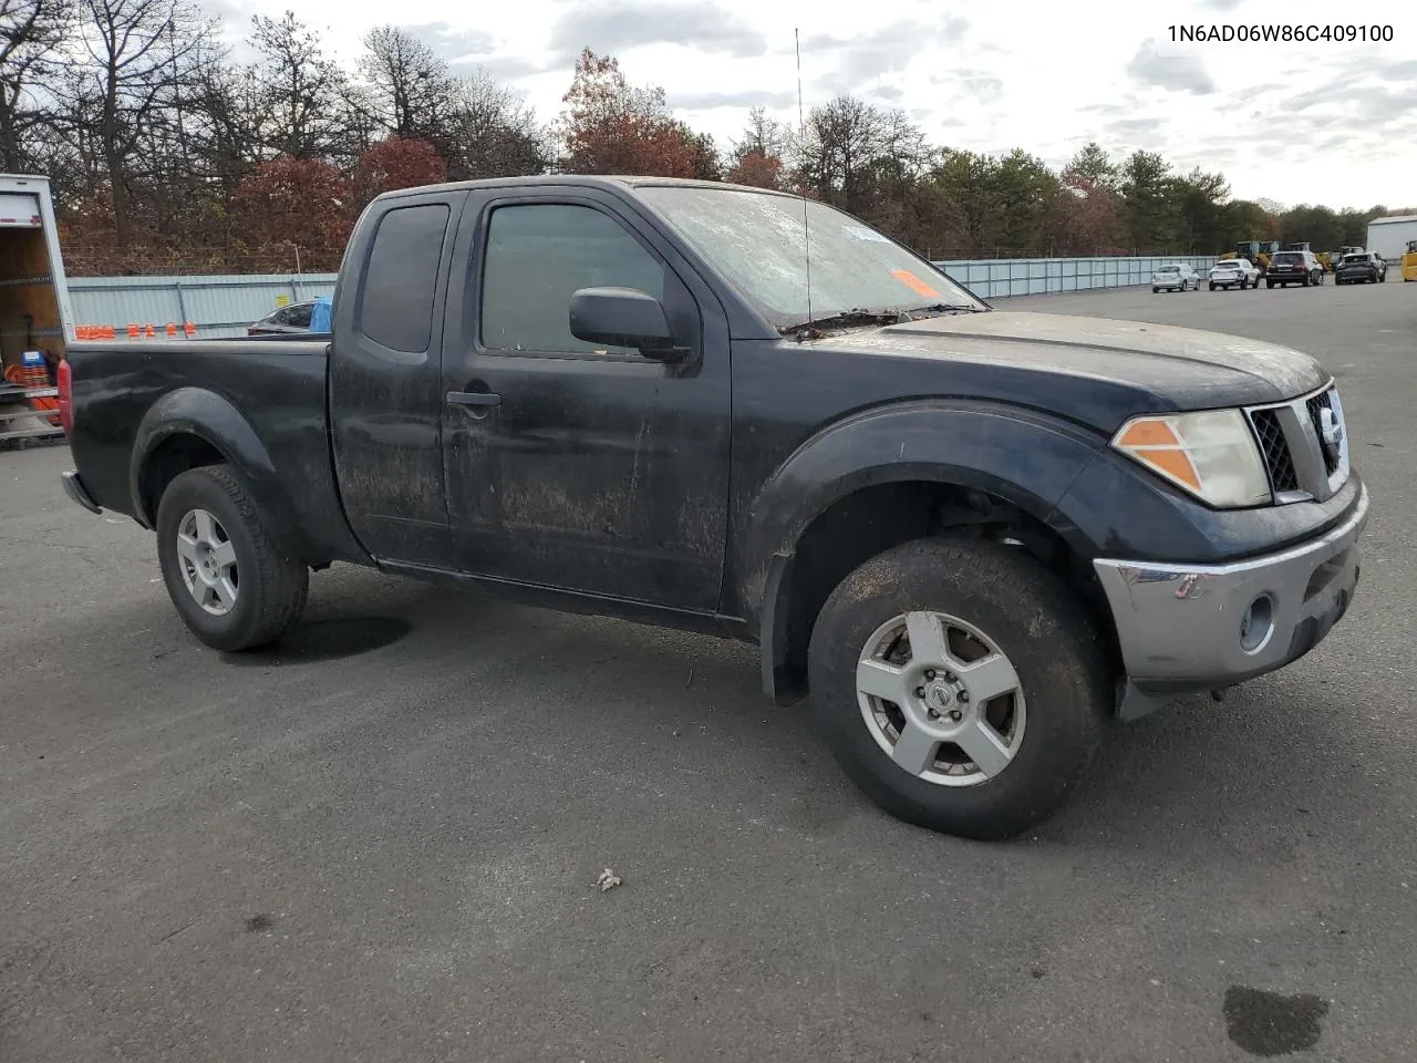
[[[177,612],[214,649],[264,646],[305,611],[309,570],[278,547],[228,465],[190,469],[167,485],[157,560]]]

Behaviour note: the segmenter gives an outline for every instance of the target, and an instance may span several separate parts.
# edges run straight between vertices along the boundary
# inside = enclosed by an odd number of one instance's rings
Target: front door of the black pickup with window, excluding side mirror
[[[598,190],[475,193],[444,347],[448,516],[462,571],[711,612],[728,503],[727,320],[633,207]],[[581,288],[659,298],[691,354],[570,333]]]

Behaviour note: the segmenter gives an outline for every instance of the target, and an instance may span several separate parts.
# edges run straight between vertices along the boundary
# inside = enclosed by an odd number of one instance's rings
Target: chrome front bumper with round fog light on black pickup
[[[1353,600],[1367,507],[1365,485],[1331,532],[1231,564],[1095,560],[1127,669],[1122,719],[1180,693],[1254,679],[1314,649]]]

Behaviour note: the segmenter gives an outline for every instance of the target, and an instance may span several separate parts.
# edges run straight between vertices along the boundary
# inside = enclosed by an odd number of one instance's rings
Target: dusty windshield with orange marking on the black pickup
[[[988,309],[924,258],[822,203],[669,184],[638,191],[774,327],[847,310]],[[811,313],[803,203],[812,252]]]

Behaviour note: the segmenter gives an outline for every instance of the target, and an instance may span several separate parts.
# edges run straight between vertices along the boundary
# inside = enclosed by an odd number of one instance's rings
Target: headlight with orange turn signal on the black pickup
[[[1217,509],[1270,502],[1264,458],[1238,410],[1135,417],[1112,446]]]

